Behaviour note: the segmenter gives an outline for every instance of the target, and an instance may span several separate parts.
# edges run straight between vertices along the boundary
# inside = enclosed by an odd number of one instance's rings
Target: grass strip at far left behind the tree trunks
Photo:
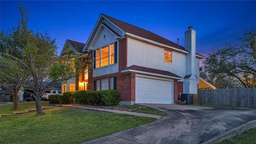
[[[13,110],[13,105],[0,106],[0,114],[12,114],[15,111],[24,111],[25,109],[35,109],[35,101],[19,102],[19,109]],[[51,106],[49,101],[41,101],[42,106]]]

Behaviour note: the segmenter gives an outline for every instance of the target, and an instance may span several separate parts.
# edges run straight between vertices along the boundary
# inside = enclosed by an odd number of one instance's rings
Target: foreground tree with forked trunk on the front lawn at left
[[[55,40],[51,39],[47,33],[42,34],[29,30],[26,16],[29,11],[23,9],[22,6],[19,6],[19,9],[21,11],[21,22],[18,26],[19,34],[17,34],[18,36],[15,35],[17,31],[14,30],[9,34],[2,32],[6,34],[5,37],[7,38],[1,39],[1,45],[2,43],[8,45],[9,39],[21,39],[18,40],[19,45],[17,46],[21,57],[10,54],[6,50],[7,46],[2,47],[3,50],[0,53],[1,73],[4,76],[8,75],[8,71],[2,69],[4,66],[21,79],[25,79],[26,87],[33,91],[31,94],[36,99],[36,113],[41,115],[43,112],[40,100],[45,90],[63,80],[78,77],[84,69],[84,63],[90,65],[90,59],[86,56],[80,58],[81,55],[74,54],[58,57]],[[15,78],[10,75],[8,77]]]

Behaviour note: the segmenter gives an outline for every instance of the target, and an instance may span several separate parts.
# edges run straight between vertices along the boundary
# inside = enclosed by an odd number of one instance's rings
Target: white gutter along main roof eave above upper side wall
[[[140,36],[137,36],[137,35],[133,35],[133,34],[130,34],[130,33],[126,33],[126,36],[129,36],[129,37],[132,37],[132,38],[135,38],[135,39],[139,39],[140,41],[147,42],[147,43],[150,43],[150,44],[154,44],[154,45],[158,45],[158,46],[162,46],[162,47],[168,47],[169,49],[172,49],[174,51],[179,51],[181,53],[189,53],[188,51],[183,51],[183,50],[177,49],[175,47],[172,47],[172,46],[169,46],[169,45],[165,45],[165,44],[161,44],[161,43],[152,41],[150,39],[143,38],[143,37],[140,37]]]

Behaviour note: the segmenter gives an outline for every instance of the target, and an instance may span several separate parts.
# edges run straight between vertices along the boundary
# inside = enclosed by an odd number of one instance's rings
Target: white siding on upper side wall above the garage
[[[128,38],[127,67],[132,65],[167,70],[178,76],[186,75],[186,54],[173,51],[172,63],[164,62],[164,48]]]

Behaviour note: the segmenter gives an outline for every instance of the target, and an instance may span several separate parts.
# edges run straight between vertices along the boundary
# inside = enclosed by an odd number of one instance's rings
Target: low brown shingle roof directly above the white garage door
[[[160,74],[160,75],[166,75],[166,76],[181,78],[180,76],[175,75],[175,74],[171,73],[170,71],[159,70],[159,69],[154,69],[154,68],[147,68],[147,67],[141,67],[141,66],[136,66],[136,65],[132,65],[130,67],[127,67],[126,69],[145,71],[145,72],[148,72],[148,73],[154,73],[154,74]],[[124,69],[124,70],[126,70],[126,69]]]

